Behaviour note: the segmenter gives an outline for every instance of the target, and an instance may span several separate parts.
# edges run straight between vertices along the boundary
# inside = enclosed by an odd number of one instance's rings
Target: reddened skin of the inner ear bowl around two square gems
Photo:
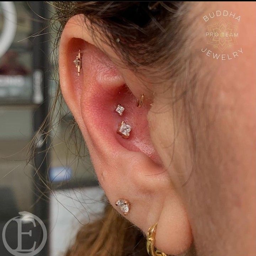
[[[140,151],[148,155],[156,163],[161,164],[149,135],[146,117],[150,106],[145,103],[141,108],[138,108],[136,106],[136,98],[130,93],[126,85],[120,87],[115,95],[107,96],[106,92],[105,102],[102,102],[101,96],[100,100],[97,100],[97,95],[94,97],[94,106],[91,106],[91,111],[95,113],[95,122],[98,122],[97,120],[101,120],[101,122],[104,120],[104,125],[98,123],[99,132],[116,139],[118,145],[122,145],[130,151]],[[126,95],[126,97],[123,97],[123,95]],[[125,108],[122,116],[119,116],[115,111],[119,102]],[[117,129],[122,121],[132,126],[130,136],[127,139],[124,139],[121,134],[117,133]]]

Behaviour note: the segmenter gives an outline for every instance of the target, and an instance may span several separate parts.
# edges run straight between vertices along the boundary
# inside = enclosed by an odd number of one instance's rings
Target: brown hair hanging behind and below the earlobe
[[[107,205],[102,219],[82,227],[66,256],[144,256],[145,238],[141,231]]]

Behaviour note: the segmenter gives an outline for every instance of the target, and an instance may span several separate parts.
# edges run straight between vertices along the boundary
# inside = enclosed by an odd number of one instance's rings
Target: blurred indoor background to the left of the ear
[[[49,136],[37,133],[57,90],[51,3],[0,2],[0,228],[2,233],[19,212],[37,215],[48,231],[37,254],[42,256],[63,255],[77,229],[100,216],[105,202],[79,134],[78,156],[73,117],[64,103],[58,101],[50,117]],[[30,144],[35,152],[27,164]],[[16,248],[17,229],[8,236]],[[0,255],[12,255],[2,240]]]

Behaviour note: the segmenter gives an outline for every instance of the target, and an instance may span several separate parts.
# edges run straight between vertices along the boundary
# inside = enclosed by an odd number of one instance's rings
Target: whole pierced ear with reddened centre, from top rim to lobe
[[[65,102],[112,206],[117,209],[115,202],[127,199],[130,210],[126,218],[144,233],[158,222],[156,246],[167,254],[180,254],[191,244],[191,230],[183,203],[151,144],[150,102],[136,107],[136,98],[143,93],[139,79],[112,62],[113,58],[121,61],[113,49],[95,44],[86,22],[83,15],[72,17],[60,40],[59,75]],[[73,63],[79,49],[80,76]],[[127,84],[137,89],[131,91]],[[125,108],[122,116],[115,112],[118,104]],[[122,121],[132,126],[128,139],[117,133]]]

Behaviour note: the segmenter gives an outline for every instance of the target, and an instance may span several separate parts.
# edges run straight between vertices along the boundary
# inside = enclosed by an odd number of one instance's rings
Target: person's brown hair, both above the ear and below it
[[[185,72],[184,64],[189,58],[184,52],[187,27],[183,23],[192,4],[161,1],[60,1],[50,4],[56,9],[52,24],[59,35],[55,42],[57,47],[65,23],[70,17],[83,14],[90,21],[91,31],[100,30],[107,38],[105,43],[115,48],[134,72],[140,71],[159,84],[161,79],[180,79],[180,74]],[[179,84],[185,86],[183,91],[186,91],[186,83]],[[56,100],[60,94],[59,88]],[[108,205],[102,219],[80,229],[66,253],[66,256],[82,255],[147,255],[145,238]]]

